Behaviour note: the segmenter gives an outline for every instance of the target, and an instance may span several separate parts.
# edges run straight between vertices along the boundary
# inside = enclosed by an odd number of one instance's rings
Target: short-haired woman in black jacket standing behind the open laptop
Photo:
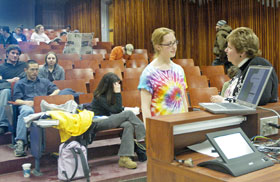
[[[225,91],[226,98],[235,98],[242,87],[247,70],[252,65],[272,66],[269,61],[260,55],[259,38],[247,27],[240,27],[233,30],[227,37],[228,46],[226,53],[228,60],[240,69],[239,74],[235,76]],[[212,96],[212,102],[224,102],[222,96]],[[269,77],[267,85],[264,89],[259,105],[277,102],[278,100],[278,78],[275,70]]]

